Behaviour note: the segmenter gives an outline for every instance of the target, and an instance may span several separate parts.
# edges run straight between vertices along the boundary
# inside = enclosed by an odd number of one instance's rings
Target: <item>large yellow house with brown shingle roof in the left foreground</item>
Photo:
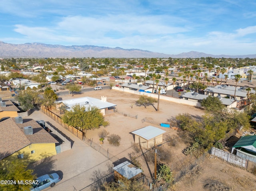
[[[40,160],[56,155],[58,143],[33,119],[8,118],[0,122],[0,160],[28,157]]]

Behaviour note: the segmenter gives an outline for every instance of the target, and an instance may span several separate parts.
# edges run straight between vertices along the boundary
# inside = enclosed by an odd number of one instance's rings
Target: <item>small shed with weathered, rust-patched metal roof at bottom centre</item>
[[[136,179],[142,173],[142,169],[139,169],[138,167],[134,166],[132,163],[128,161],[125,161],[113,167],[113,169],[114,169],[114,177],[116,181],[118,181],[118,179],[123,179],[123,178],[126,178],[128,180]]]

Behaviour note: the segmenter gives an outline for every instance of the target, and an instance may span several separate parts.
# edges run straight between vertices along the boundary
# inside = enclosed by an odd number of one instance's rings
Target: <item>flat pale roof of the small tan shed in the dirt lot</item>
[[[152,138],[155,138],[161,134],[164,134],[166,131],[153,127],[153,126],[146,126],[144,128],[138,129],[136,131],[133,131],[132,134],[138,135],[146,140],[150,140]]]

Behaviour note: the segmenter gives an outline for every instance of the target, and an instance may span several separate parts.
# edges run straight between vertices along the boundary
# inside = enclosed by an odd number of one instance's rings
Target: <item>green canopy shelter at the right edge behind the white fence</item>
[[[237,156],[246,158],[250,161],[256,161],[256,135],[241,137],[232,147],[231,154],[233,154],[235,148],[240,148],[236,150]]]

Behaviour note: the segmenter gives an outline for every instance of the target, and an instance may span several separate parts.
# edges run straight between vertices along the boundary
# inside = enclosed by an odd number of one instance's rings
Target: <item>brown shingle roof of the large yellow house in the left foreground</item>
[[[24,127],[27,126],[33,128],[32,135],[24,133]],[[22,124],[17,124],[15,118],[8,118],[0,122],[0,131],[0,159],[6,158],[30,144],[58,143],[33,119],[23,119]]]

